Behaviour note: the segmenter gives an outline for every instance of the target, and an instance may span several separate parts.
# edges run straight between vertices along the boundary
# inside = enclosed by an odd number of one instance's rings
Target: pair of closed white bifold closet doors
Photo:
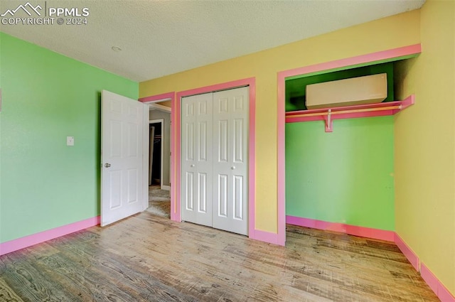
[[[247,234],[249,94],[183,97],[182,220]]]

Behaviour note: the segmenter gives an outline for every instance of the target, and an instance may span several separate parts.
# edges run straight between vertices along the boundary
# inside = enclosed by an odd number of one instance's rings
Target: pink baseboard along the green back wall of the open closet
[[[295,216],[286,216],[286,222],[289,225],[299,225],[301,227],[311,227],[318,230],[342,232],[358,237],[380,239],[390,242],[393,242],[395,239],[395,232],[373,229],[371,227],[358,227],[355,225],[346,225],[344,223],[326,222]]]

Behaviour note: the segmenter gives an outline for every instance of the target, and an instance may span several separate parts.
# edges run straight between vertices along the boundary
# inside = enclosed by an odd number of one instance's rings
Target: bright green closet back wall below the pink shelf
[[[286,124],[286,215],[395,230],[393,117]]]

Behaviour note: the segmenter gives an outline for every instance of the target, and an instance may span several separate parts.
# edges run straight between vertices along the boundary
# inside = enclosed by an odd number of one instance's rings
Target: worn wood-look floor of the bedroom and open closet
[[[288,225],[279,247],[149,212],[1,256],[0,277],[23,301],[439,301],[389,242]]]

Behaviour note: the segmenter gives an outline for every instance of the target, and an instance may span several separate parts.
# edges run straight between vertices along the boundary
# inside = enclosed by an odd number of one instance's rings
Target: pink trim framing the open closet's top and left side
[[[381,60],[399,58],[406,55],[415,55],[422,52],[420,44],[409,45],[401,48],[383,50],[377,53],[369,53],[366,55],[358,55],[352,58],[344,58],[331,62],[309,65],[302,68],[294,68],[278,72],[277,75],[277,215],[278,215],[278,238],[279,244],[284,245],[286,240],[286,180],[285,180],[285,80],[287,77],[296,75],[305,75],[311,72],[321,72],[323,70],[332,70],[335,68],[343,68],[347,66],[360,65],[365,63],[373,63]]]

